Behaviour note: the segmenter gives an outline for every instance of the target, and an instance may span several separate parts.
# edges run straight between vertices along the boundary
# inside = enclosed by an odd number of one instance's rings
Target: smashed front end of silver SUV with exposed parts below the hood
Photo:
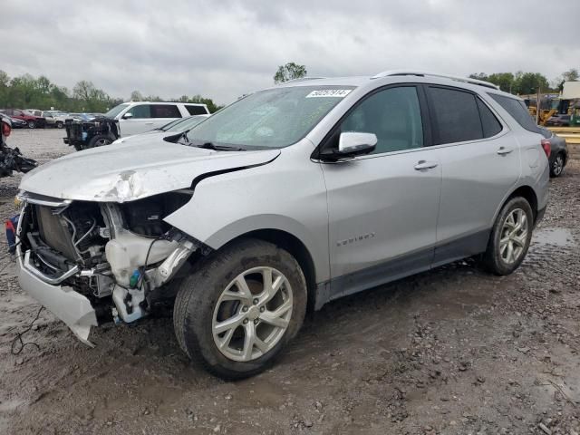
[[[20,284],[83,343],[91,344],[91,326],[150,314],[171,297],[169,283],[182,266],[209,252],[163,221],[189,201],[187,190],[123,204],[19,198]]]

